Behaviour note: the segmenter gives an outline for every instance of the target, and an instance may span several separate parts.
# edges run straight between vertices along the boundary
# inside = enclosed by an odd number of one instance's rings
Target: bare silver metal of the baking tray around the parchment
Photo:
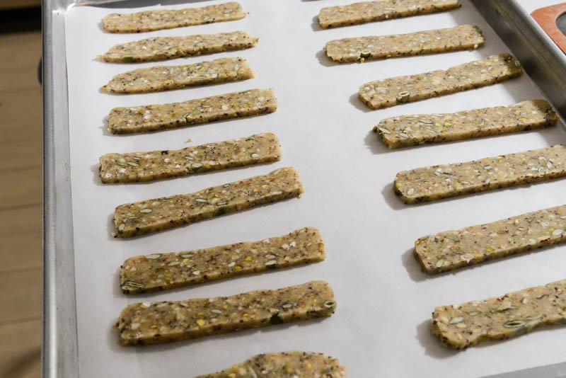
[[[188,1],[175,1],[175,4]],[[563,55],[556,54],[553,44],[529,23],[528,15],[514,1],[474,1],[485,19],[502,36],[526,71],[562,115],[566,93]],[[73,1],[50,1],[44,4],[44,128],[45,128],[45,304],[44,353],[45,377],[76,377],[79,375],[77,347],[76,301],[71,213],[71,183],[69,179],[69,119],[67,102],[67,66],[64,38],[64,12]],[[88,4],[97,3],[88,1]],[[129,3],[131,4],[131,3]],[[139,6],[139,1],[136,6]],[[112,6],[114,6],[112,4]],[[124,4],[120,4],[120,7]],[[322,6],[322,5],[320,5]],[[505,30],[504,20],[514,20],[524,28]],[[514,19],[516,17],[516,19]],[[509,21],[510,22],[510,21]],[[523,22],[522,24],[520,22]],[[322,68],[322,67],[321,67]],[[549,79],[550,78],[550,79]],[[356,86],[358,83],[354,84]],[[541,282],[542,283],[542,282]],[[340,356],[337,356],[340,357]],[[560,377],[565,365],[514,372]]]

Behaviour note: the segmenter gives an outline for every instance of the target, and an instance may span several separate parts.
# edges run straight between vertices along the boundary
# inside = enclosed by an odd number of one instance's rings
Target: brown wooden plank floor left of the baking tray
[[[0,52],[0,377],[40,377],[41,33],[0,34]]]

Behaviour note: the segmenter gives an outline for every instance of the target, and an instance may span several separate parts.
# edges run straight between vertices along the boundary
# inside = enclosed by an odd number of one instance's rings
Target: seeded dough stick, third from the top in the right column
[[[446,70],[371,81],[359,87],[359,98],[371,109],[388,108],[489,86],[522,73],[519,61],[504,53]]]

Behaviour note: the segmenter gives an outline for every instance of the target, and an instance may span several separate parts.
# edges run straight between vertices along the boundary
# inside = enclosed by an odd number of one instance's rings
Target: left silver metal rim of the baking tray
[[[64,10],[42,1],[43,343],[42,377],[79,377]]]

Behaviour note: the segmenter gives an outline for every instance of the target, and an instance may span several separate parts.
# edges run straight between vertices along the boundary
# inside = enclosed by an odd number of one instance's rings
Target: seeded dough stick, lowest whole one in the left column
[[[120,344],[148,345],[331,316],[335,308],[330,285],[311,281],[231,297],[130,304],[116,326]]]

